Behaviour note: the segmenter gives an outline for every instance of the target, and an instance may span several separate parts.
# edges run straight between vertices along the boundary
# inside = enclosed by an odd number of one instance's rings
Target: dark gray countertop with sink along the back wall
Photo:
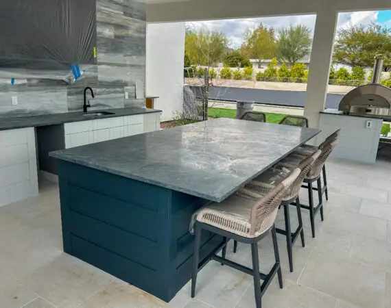
[[[63,114],[45,114],[42,116],[20,116],[14,118],[0,118],[0,131],[6,129],[19,129],[24,127],[40,127],[46,125],[56,125],[71,122],[80,122],[86,120],[95,120],[97,118],[115,118],[117,116],[133,116],[136,114],[149,114],[152,112],[161,112],[161,110],[147,109],[143,107],[125,107],[117,109],[93,110],[92,112],[112,112],[106,116],[84,116],[83,112],[66,112]]]

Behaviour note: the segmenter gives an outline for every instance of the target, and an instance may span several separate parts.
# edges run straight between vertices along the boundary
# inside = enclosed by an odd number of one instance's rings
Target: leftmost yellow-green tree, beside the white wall
[[[203,66],[215,66],[222,61],[228,45],[226,35],[221,32],[201,29],[187,29],[185,36],[185,53],[191,63]]]

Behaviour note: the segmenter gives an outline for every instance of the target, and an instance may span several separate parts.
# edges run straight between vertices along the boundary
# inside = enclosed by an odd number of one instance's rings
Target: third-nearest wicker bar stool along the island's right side
[[[322,221],[324,220],[324,214],[323,214],[323,200],[322,200],[322,182],[320,181],[320,175],[322,173],[322,169],[324,166],[324,163],[326,162],[327,158],[333,151],[335,144],[337,144],[338,140],[335,140],[328,144],[327,146],[324,146],[322,148],[322,153],[320,153],[318,159],[313,163],[313,166],[309,170],[307,176],[304,179],[304,183],[307,183],[307,185],[303,185],[303,188],[308,189],[308,201],[309,205],[304,205],[303,203],[300,203],[300,207],[303,209],[309,209],[309,218],[311,220],[311,231],[312,231],[312,237],[315,238],[315,217],[320,212],[320,218]],[[287,158],[283,159],[281,162],[279,162],[279,166],[285,167],[285,168],[296,168],[298,164],[303,160],[303,156],[297,155],[295,153],[292,153]],[[318,198],[319,203],[318,205],[313,204],[313,188],[312,183],[315,182],[318,186]]]

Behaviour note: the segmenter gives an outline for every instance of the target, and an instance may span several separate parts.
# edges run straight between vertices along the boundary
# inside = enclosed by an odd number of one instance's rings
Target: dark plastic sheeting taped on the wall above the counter
[[[95,0],[0,2],[0,82],[73,84],[96,64]]]

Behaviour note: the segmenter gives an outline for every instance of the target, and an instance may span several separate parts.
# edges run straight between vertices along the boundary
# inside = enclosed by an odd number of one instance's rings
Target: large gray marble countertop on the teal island
[[[50,155],[220,202],[318,133],[218,118]]]

